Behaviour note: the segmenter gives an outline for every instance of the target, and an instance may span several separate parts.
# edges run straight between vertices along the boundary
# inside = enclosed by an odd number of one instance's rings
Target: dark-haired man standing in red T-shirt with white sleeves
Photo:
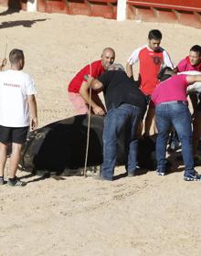
[[[158,83],[157,75],[163,66],[174,68],[174,65],[164,48],[160,47],[162,33],[158,29],[153,29],[148,35],[148,44],[142,48],[137,48],[132,52],[131,57],[126,64],[126,72],[128,77],[133,78],[132,66],[139,61],[139,81],[140,89],[147,98],[149,105],[145,117],[144,135],[150,135],[150,128],[153,122],[154,105],[150,97]]]

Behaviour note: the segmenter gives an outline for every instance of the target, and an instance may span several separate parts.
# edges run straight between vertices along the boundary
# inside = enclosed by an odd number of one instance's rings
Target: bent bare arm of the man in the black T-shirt
[[[92,101],[92,99],[90,99],[90,86],[92,90],[97,91],[98,93],[102,89],[99,80],[89,78],[88,82],[82,82],[81,87],[79,89],[79,94],[88,104],[91,105],[91,108],[95,114],[104,115],[105,111],[100,106],[98,106],[94,101]]]

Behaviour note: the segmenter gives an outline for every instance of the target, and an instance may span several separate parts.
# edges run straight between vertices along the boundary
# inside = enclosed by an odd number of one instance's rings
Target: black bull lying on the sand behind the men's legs
[[[90,117],[88,166],[102,163],[103,118]],[[73,116],[50,123],[29,133],[23,146],[21,165],[26,171],[44,170],[58,174],[84,166],[88,131],[88,115]],[[139,140],[138,164],[155,168],[155,145],[152,140]],[[118,140],[117,165],[125,163],[124,133]]]

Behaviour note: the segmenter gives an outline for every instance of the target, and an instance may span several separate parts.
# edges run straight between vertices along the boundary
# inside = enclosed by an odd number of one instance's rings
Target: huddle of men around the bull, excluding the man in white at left
[[[201,47],[198,45],[192,47],[189,55],[175,67],[168,53],[160,47],[161,40],[161,31],[151,30],[148,34],[148,44],[132,52],[126,64],[126,71],[121,64],[113,63],[114,50],[105,48],[100,60],[81,69],[69,83],[69,100],[75,112],[88,113],[90,106],[92,113],[106,115],[102,138],[103,163],[100,176],[96,177],[98,179],[113,179],[117,139],[122,131],[125,131],[127,139],[126,171],[128,176],[134,176],[137,166],[137,131],[139,127],[143,127],[144,118],[143,136],[149,136],[153,117],[158,133],[156,173],[159,176],[167,173],[166,144],[173,126],[182,144],[184,179],[189,181],[201,179],[194,167],[194,158],[198,157],[197,144],[201,136],[201,103],[198,101],[197,93],[191,96],[194,106],[194,133],[192,133],[191,114],[186,98],[187,86],[201,81],[201,75],[180,74],[192,70],[201,72]],[[134,80],[132,66],[136,62],[139,62],[140,66],[139,77]],[[97,63],[99,69],[96,69]],[[103,91],[106,109],[98,96],[100,91]]]

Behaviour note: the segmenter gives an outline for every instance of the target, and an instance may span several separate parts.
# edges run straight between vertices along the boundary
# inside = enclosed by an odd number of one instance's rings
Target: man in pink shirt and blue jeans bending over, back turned
[[[169,128],[174,126],[182,144],[182,155],[185,164],[186,181],[201,180],[201,176],[194,169],[192,146],[191,115],[187,105],[186,89],[189,84],[201,81],[201,75],[175,75],[175,72],[166,67],[159,74],[161,81],[152,94],[155,104],[157,174],[164,176],[166,173],[166,144]]]

